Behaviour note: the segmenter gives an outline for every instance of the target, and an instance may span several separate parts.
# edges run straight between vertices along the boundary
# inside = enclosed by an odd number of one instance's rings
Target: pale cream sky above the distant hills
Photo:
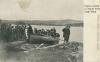
[[[20,7],[18,1],[20,0],[0,0],[0,18],[8,20],[83,20],[82,0],[30,0],[30,5],[24,9]]]

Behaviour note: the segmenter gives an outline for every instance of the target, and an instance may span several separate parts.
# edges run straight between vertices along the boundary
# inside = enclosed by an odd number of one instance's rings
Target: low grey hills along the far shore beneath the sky
[[[31,24],[31,25],[47,25],[47,26],[80,26],[83,27],[83,21],[64,19],[64,20],[0,20],[0,23],[9,24]]]

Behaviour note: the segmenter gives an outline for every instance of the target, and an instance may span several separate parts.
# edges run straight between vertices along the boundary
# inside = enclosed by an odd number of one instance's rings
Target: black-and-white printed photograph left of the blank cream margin
[[[0,0],[0,62],[83,62],[82,0]]]

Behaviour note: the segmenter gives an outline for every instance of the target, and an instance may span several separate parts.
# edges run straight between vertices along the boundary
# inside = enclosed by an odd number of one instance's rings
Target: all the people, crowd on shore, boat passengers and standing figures
[[[27,32],[27,34],[26,34]],[[70,36],[70,26],[66,26],[63,30],[63,38],[64,42],[67,43],[69,41]],[[5,38],[7,41],[13,40],[25,40],[29,39],[30,35],[40,35],[40,36],[51,36],[53,38],[59,38],[60,34],[56,32],[55,28],[51,29],[32,29],[30,24],[28,25],[12,25],[12,24],[1,24],[0,26],[0,38]]]

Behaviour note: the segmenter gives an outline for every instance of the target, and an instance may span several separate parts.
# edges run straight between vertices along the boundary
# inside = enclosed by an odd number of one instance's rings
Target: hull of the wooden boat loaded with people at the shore
[[[30,35],[29,42],[32,44],[44,43],[44,44],[54,45],[59,43],[59,39],[50,36]]]

